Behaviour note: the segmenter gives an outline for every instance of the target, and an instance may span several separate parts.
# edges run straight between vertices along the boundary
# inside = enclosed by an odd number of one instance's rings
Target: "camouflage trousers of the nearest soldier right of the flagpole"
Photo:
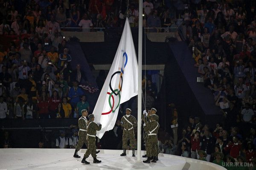
[[[157,156],[157,136],[151,135],[147,137],[147,143],[146,143],[146,151],[147,151],[147,157],[151,156]]]

